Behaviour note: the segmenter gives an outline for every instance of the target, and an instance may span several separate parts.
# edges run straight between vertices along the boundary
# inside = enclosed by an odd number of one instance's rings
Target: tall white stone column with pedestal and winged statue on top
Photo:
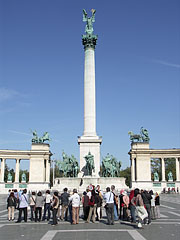
[[[80,171],[86,175],[85,156],[90,152],[94,156],[95,173],[99,177],[100,171],[100,145],[102,139],[96,134],[96,88],[95,88],[95,47],[97,35],[93,34],[92,22],[95,22],[95,10],[92,10],[92,17],[87,18],[86,34],[82,36],[84,45],[84,132],[79,137],[80,145]]]

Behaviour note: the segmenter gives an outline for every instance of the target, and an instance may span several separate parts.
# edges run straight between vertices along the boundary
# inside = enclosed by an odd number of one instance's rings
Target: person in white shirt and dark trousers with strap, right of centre
[[[114,195],[110,191],[109,187],[106,188],[104,200],[106,202],[105,209],[107,215],[107,225],[114,225]]]

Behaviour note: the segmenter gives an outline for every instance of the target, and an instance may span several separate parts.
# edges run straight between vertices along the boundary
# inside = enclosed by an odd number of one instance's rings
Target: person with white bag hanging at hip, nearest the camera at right
[[[138,188],[134,190],[134,197],[131,200],[131,204],[133,204],[137,210],[137,215],[139,217],[138,228],[142,228],[142,222],[148,217],[148,213],[144,208],[144,202]]]

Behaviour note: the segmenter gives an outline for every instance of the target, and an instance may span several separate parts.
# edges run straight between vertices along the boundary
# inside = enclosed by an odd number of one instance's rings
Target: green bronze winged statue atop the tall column
[[[85,27],[85,33],[87,35],[92,35],[93,34],[93,23],[95,22],[95,9],[91,9],[92,12],[92,17],[87,16],[87,12],[85,9],[83,9],[83,22],[86,22],[86,27]]]

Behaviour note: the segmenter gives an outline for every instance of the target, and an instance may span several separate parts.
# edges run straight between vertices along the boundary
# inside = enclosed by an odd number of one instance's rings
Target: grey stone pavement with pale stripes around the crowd
[[[14,223],[7,220],[6,196],[0,195],[0,240],[179,240],[180,239],[180,195],[161,195],[161,218],[152,221],[150,226],[137,229],[136,224],[117,221],[115,225],[102,222],[78,225],[59,222],[55,227],[47,222]],[[16,212],[16,219],[17,219]]]

